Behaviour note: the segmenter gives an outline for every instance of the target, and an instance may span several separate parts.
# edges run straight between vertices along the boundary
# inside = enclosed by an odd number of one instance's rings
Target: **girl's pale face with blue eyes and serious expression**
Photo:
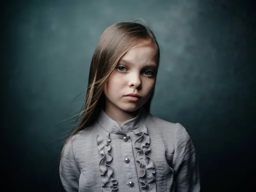
[[[156,83],[156,47],[134,46],[120,59],[104,87],[105,110],[132,112],[148,101]],[[125,95],[136,93],[139,99]],[[136,98],[135,98],[136,99]]]

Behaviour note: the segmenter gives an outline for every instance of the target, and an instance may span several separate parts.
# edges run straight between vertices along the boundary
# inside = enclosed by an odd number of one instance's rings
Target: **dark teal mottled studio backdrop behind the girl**
[[[201,191],[255,190],[256,13],[236,0],[1,3],[1,188],[61,191],[58,157],[113,23],[144,18],[160,44],[151,113],[195,145]]]

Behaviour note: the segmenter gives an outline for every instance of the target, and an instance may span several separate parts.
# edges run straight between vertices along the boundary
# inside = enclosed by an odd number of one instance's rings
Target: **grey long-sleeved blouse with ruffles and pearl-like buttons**
[[[67,192],[199,192],[195,148],[186,129],[140,108],[121,126],[103,109],[64,147]]]

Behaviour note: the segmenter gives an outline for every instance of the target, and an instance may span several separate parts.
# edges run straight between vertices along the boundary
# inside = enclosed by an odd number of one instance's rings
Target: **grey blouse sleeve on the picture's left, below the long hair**
[[[61,184],[66,192],[79,191],[80,171],[76,164],[72,143],[72,138],[70,138],[64,146],[59,166]]]

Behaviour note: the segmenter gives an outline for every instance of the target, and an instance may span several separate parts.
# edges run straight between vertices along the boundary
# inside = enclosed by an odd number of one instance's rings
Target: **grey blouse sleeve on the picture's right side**
[[[173,168],[175,192],[200,192],[200,175],[195,148],[189,134],[180,123],[176,123]]]

